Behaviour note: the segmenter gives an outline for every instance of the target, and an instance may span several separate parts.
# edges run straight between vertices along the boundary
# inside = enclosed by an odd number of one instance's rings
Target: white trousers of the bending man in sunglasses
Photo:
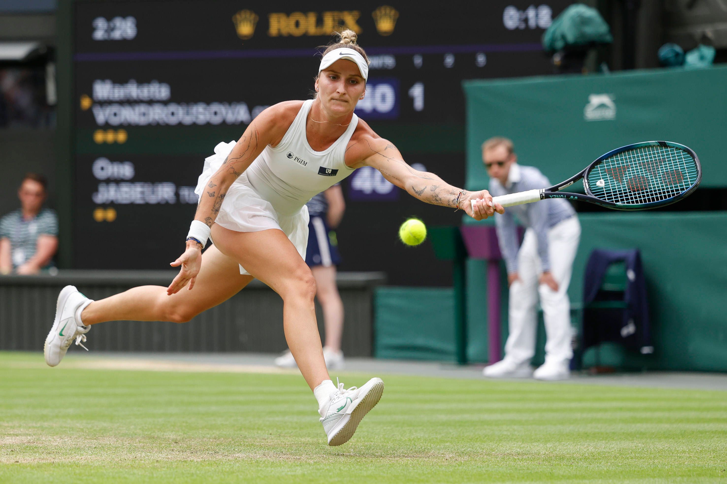
[[[518,364],[529,362],[535,354],[538,295],[547,335],[545,361],[566,362],[573,357],[568,286],[581,238],[578,217],[557,223],[548,231],[547,237],[550,272],[558,282],[558,291],[539,284],[542,269],[537,237],[532,229],[525,231],[523,245],[518,252],[520,279],[510,284],[510,335],[505,343],[505,358]]]

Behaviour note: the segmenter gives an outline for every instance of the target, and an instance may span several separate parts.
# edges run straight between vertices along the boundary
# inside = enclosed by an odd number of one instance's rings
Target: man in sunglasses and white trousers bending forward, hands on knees
[[[518,165],[513,142],[495,137],[482,145],[492,196],[541,189],[550,181],[537,168]],[[515,218],[526,227],[518,243]],[[495,217],[500,252],[510,284],[509,328],[505,358],[483,370],[486,377],[535,377],[564,380],[570,376],[571,321],[568,286],[581,234],[575,210],[566,200],[515,205]],[[545,319],[545,364],[535,372],[538,299]]]

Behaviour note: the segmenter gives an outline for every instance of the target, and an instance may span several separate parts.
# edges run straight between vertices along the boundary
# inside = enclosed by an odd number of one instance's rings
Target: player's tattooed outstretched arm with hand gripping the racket
[[[385,179],[422,202],[465,210],[475,220],[488,218],[495,212],[505,213],[501,205],[492,202],[487,190],[470,192],[448,184],[434,173],[411,168],[394,144],[385,139],[366,139],[365,144],[371,154],[362,164],[376,168]],[[470,200],[476,200],[474,208]]]

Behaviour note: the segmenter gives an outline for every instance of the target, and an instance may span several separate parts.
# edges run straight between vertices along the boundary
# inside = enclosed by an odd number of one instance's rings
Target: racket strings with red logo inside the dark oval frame
[[[644,146],[602,160],[590,170],[586,183],[601,200],[643,205],[686,192],[697,179],[696,161],[685,150]]]

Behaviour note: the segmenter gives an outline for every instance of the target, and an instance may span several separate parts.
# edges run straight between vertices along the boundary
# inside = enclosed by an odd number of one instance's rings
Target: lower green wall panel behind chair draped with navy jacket
[[[598,360],[619,368],[727,372],[727,213],[586,213],[579,218],[582,235],[569,288],[571,303],[581,303],[585,264],[597,247],[638,248],[648,290],[654,354],[603,345]],[[467,267],[468,283],[482,289],[484,266],[470,261]],[[471,288],[468,295],[468,325],[483,328],[483,298]],[[507,311],[503,312],[506,337]],[[486,331],[481,331],[478,353],[470,353],[472,361],[486,361]],[[537,360],[540,355],[539,349]],[[587,351],[585,365],[596,358],[594,350]]]

